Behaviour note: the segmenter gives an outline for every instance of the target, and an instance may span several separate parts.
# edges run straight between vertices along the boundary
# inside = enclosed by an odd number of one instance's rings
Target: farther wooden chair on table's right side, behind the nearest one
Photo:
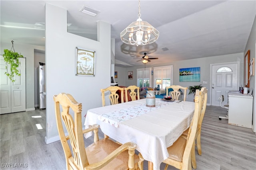
[[[202,108],[202,110],[200,111],[199,121],[198,121],[197,129],[196,129],[196,137],[195,137],[193,148],[191,150],[192,166],[193,166],[194,169],[196,169],[195,146],[197,146],[198,154],[202,155],[202,149],[201,149],[201,127],[202,127],[202,122],[203,122],[203,119],[204,119],[204,113],[205,113],[206,105],[207,105],[207,89],[205,87],[201,88],[201,90],[200,90],[200,98],[202,98],[202,100],[200,100],[200,101],[202,101],[200,103],[200,107]],[[184,131],[182,133],[182,136],[187,138],[188,137],[188,131],[189,131],[189,129]]]

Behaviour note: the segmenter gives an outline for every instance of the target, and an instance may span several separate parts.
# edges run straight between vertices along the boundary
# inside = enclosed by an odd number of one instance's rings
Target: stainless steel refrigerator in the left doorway
[[[46,108],[46,84],[45,84],[45,64],[44,63],[39,63],[40,66],[37,68],[38,72],[38,84],[39,84],[39,109],[45,109]]]

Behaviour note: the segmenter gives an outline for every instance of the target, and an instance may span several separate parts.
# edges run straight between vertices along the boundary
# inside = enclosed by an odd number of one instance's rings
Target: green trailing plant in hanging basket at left
[[[13,47],[13,41],[12,41],[11,50],[4,49],[3,57],[4,57],[4,61],[6,62],[6,67],[5,67],[6,72],[4,74],[6,74],[6,76],[8,76],[12,82],[15,82],[14,74],[20,76],[19,70],[17,68],[20,65],[19,58],[20,57],[23,58],[23,55],[15,52]],[[8,71],[8,64],[10,64],[10,72]]]

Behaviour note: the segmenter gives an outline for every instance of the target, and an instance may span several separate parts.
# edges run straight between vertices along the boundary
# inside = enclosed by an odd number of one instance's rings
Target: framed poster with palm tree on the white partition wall
[[[95,51],[76,47],[76,75],[95,76]]]

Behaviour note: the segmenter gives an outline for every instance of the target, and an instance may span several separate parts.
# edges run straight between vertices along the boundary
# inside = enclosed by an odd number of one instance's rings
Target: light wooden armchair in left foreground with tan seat
[[[139,167],[143,167],[139,156],[134,154],[135,143],[128,142],[120,146],[109,138],[99,140],[99,125],[92,125],[92,127],[82,130],[82,104],[76,102],[70,94],[55,95],[54,102],[56,123],[64,149],[67,170],[137,170]],[[60,106],[62,106],[62,111]],[[74,118],[73,114],[69,113],[70,108],[74,113]],[[68,131],[67,136],[65,136],[62,124]],[[83,134],[90,131],[94,131],[94,143],[85,148]],[[68,141],[72,149],[70,149]]]

